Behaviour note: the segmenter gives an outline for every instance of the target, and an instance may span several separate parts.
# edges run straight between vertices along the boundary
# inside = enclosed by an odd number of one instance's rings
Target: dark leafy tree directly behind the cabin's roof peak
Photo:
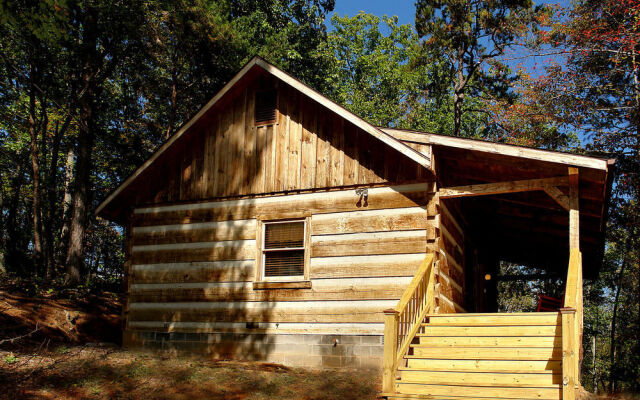
[[[320,71],[329,63],[318,48],[326,40],[324,19],[333,5],[333,0],[151,3],[146,54],[127,75],[144,91],[153,129],[162,129],[166,139],[254,55],[322,90]]]

